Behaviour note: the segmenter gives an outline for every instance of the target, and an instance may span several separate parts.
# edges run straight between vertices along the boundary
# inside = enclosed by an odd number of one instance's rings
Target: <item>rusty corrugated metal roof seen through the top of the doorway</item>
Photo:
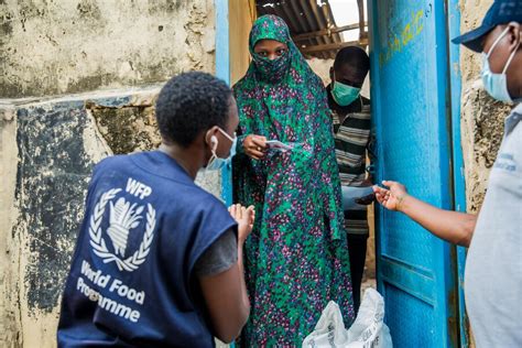
[[[311,46],[342,43],[339,33],[327,31],[336,28],[336,23],[328,1],[323,0],[322,3],[322,6],[318,6],[316,0],[257,0],[255,7],[258,15],[275,14],[284,19],[294,37],[323,30],[324,34],[314,37],[296,37],[295,44],[307,57],[335,58],[338,47],[317,52],[305,50]]]

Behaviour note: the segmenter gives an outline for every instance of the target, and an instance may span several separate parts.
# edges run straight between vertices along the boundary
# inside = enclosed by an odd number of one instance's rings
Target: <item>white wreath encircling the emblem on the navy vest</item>
[[[89,221],[90,246],[94,248],[94,252],[104,260],[104,263],[113,261],[120,271],[126,270],[132,272],[145,261],[146,255],[151,251],[151,243],[154,238],[154,227],[156,225],[156,211],[151,204],[146,204],[145,232],[143,233],[143,240],[140,243],[140,248],[138,248],[138,250],[129,258],[120,259],[107,248],[105,239],[101,238],[100,228],[106,205],[111,202],[119,192],[121,192],[121,188],[109,189],[101,195],[100,200],[96,204]]]

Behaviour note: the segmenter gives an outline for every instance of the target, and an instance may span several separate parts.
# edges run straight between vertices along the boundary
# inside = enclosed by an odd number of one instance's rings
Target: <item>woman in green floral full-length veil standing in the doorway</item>
[[[331,120],[325,88],[281,18],[259,18],[249,48],[252,63],[233,87],[233,193],[257,211],[244,247],[251,312],[240,344],[301,347],[329,301],[347,326],[354,319]]]

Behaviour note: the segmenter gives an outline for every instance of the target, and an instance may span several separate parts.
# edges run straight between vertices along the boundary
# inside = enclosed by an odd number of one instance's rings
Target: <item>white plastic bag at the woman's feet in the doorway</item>
[[[383,322],[384,300],[373,289],[365,292],[359,314],[347,330],[339,306],[330,301],[303,348],[392,348],[390,330]]]

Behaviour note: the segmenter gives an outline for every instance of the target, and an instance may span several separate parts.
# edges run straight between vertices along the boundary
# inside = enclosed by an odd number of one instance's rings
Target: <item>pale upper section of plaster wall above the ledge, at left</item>
[[[0,98],[214,72],[213,0],[1,0]]]

